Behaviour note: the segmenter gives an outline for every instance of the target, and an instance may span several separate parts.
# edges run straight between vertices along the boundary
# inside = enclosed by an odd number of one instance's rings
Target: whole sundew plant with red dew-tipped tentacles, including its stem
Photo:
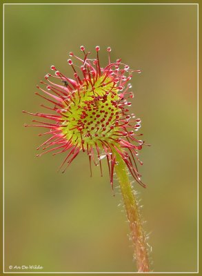
[[[86,152],[92,175],[92,164],[99,165],[102,172],[102,162],[108,164],[110,184],[113,188],[114,174],[117,175],[125,210],[130,224],[134,257],[139,272],[149,271],[148,246],[142,227],[141,215],[137,204],[136,193],[130,183],[130,175],[137,184],[145,187],[137,168],[139,150],[145,145],[139,134],[141,119],[132,113],[130,100],[134,97],[131,91],[131,70],[121,62],[112,62],[111,48],[108,47],[108,64],[101,67],[99,46],[95,47],[95,57],[80,47],[83,57],[77,57],[70,52],[68,64],[72,67],[74,79],[63,75],[55,66],[51,66],[54,74],[48,73],[45,81],[37,86],[36,95],[46,100],[48,105],[44,113],[26,112],[39,118],[33,120],[37,126],[45,128],[46,132],[39,135],[47,136],[46,141],[37,148],[41,156],[46,152],[52,155],[65,153],[61,171],[76,159],[80,152]]]

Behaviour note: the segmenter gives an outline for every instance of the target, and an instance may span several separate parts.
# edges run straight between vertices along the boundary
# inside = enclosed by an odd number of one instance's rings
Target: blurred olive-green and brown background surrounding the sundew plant
[[[37,158],[42,128],[30,112],[46,101],[36,85],[56,66],[72,77],[68,52],[84,45],[101,66],[121,58],[134,73],[130,112],[142,119],[140,205],[151,269],[194,272],[196,239],[196,5],[5,6],[5,266],[43,272],[136,271],[129,225],[115,181],[110,186],[81,152],[64,174],[65,154]],[[76,62],[77,65],[81,63]],[[47,110],[43,110],[47,112]],[[141,167],[141,168],[140,168]],[[113,194],[115,196],[113,196]],[[121,202],[121,206],[118,205]],[[30,270],[32,271],[32,270]]]

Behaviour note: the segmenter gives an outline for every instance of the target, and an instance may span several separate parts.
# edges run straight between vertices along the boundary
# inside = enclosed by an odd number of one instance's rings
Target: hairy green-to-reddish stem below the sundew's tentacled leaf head
[[[139,214],[139,208],[137,206],[137,200],[135,199],[132,185],[128,179],[128,170],[125,162],[121,158],[118,152],[114,152],[116,155],[117,165],[115,171],[119,179],[121,186],[121,193],[125,204],[126,213],[130,223],[130,230],[132,233],[132,242],[134,244],[138,272],[149,272],[149,262],[147,254],[147,246],[145,243],[145,235],[141,224],[141,217]]]

